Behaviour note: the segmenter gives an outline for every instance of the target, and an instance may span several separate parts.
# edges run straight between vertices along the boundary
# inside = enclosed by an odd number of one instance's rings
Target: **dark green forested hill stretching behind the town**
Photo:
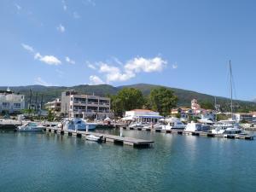
[[[38,101],[41,100],[41,96],[43,96],[44,102],[49,102],[55,97],[61,97],[61,92],[64,90],[76,90],[79,93],[84,94],[95,94],[97,96],[108,96],[115,95],[117,92],[125,87],[136,88],[143,92],[144,96],[148,96],[150,90],[154,88],[158,88],[161,85],[156,84],[131,84],[119,87],[113,87],[109,84],[99,84],[99,85],[76,85],[72,87],[66,86],[43,86],[43,85],[28,85],[28,86],[15,86],[9,87],[12,91],[20,94],[24,94],[26,96],[26,102],[29,99],[29,90],[32,90],[32,100],[35,101],[36,95],[38,94]],[[199,102],[214,102],[214,96],[210,96],[207,94],[198,93],[192,90],[182,90],[177,88],[167,87],[170,90],[173,90],[175,95],[178,97],[178,106],[190,106],[191,99],[195,98]],[[7,87],[2,86],[0,90],[6,90]],[[222,106],[229,106],[230,99],[217,96],[218,104]],[[247,101],[235,101],[236,105],[240,106],[240,108],[256,108],[255,102],[247,102]]]

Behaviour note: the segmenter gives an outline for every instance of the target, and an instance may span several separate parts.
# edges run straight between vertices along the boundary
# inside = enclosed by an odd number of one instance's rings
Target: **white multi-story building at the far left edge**
[[[20,113],[25,108],[25,96],[11,90],[0,90],[0,113]]]

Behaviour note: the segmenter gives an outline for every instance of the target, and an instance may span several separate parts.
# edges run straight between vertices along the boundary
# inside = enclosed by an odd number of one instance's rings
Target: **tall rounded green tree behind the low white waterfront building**
[[[149,100],[151,108],[164,116],[170,114],[171,109],[177,105],[177,96],[173,94],[172,90],[165,87],[151,90]]]

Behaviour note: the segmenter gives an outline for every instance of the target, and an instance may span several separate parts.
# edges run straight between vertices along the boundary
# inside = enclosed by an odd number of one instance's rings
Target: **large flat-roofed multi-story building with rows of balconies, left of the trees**
[[[75,90],[61,93],[61,113],[68,117],[105,119],[113,117],[110,98],[80,95]]]

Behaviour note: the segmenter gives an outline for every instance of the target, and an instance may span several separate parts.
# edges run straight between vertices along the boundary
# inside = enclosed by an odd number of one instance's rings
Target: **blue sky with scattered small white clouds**
[[[1,0],[0,85],[161,84],[256,98],[256,1]]]

